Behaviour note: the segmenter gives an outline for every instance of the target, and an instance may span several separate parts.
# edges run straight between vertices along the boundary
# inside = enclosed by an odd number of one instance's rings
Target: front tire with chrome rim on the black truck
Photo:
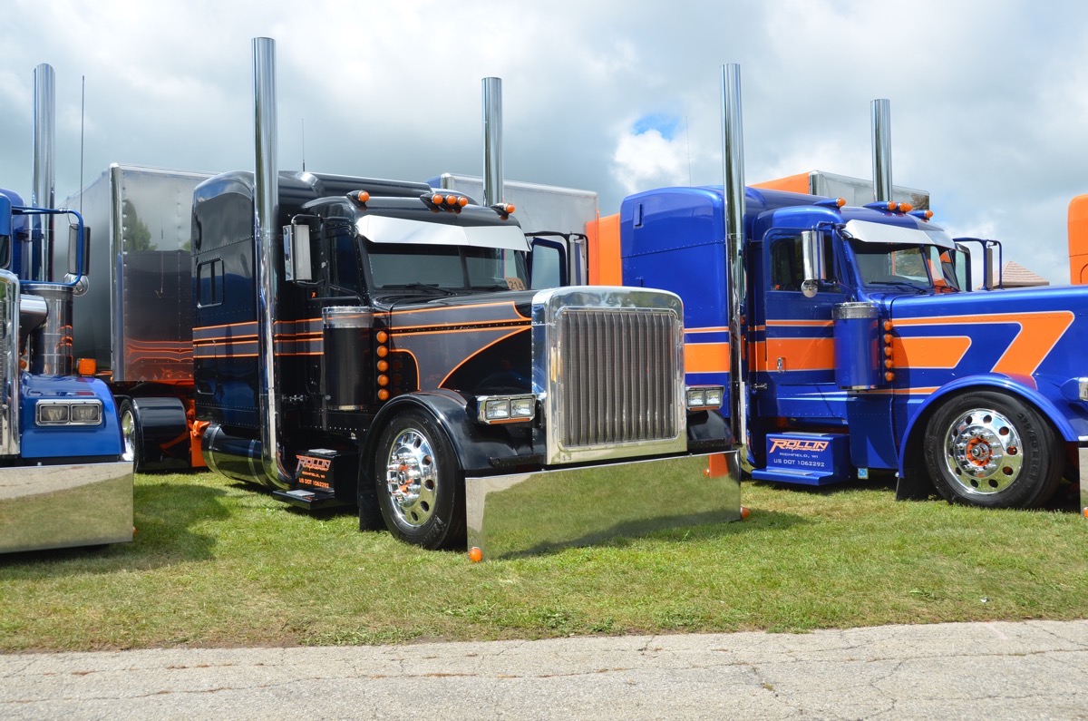
[[[390,533],[426,549],[465,545],[465,476],[446,433],[405,411],[382,431],[374,457],[378,505]]]

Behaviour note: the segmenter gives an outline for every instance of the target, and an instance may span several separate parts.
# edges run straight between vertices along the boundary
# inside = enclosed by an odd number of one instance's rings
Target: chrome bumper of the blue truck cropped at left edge
[[[132,462],[0,469],[0,553],[132,539]]]

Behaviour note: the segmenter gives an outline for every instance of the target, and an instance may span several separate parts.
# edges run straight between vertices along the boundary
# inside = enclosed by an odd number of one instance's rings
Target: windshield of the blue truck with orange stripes
[[[866,286],[961,290],[949,252],[943,248],[863,241],[852,241],[851,247]]]

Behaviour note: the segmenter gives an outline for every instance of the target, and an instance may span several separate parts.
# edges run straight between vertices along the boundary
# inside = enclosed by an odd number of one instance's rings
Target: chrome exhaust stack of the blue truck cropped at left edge
[[[34,69],[34,192],[30,205],[36,208],[57,207],[53,160],[57,147],[57,82],[53,69],[41,63]],[[41,241],[35,250],[35,280],[52,278],[53,217],[39,216]],[[29,269],[28,269],[29,270]]]

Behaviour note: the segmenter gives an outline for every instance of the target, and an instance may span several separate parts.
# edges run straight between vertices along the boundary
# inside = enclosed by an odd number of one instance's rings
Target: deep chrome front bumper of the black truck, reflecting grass
[[[468,546],[484,559],[741,517],[737,451],[466,478]]]

